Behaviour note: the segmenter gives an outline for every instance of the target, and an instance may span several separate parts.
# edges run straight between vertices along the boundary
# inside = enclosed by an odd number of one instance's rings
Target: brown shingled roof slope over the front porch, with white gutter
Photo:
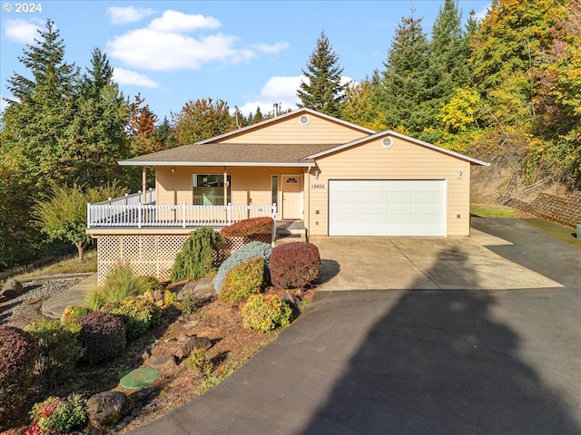
[[[120,161],[137,166],[278,166],[312,167],[305,156],[337,148],[337,144],[198,143]]]

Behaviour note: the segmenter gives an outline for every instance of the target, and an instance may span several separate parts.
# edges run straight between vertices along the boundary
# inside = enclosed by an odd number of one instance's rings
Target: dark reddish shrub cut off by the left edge
[[[25,402],[37,355],[38,344],[30,333],[0,325],[0,420],[11,417]]]

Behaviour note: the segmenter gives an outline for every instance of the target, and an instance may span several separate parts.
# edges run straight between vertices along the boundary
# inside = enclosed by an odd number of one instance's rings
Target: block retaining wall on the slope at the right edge
[[[517,208],[539,218],[551,220],[566,227],[581,224],[581,191],[573,191],[566,196],[541,193],[532,202],[515,198],[502,201],[509,207]]]

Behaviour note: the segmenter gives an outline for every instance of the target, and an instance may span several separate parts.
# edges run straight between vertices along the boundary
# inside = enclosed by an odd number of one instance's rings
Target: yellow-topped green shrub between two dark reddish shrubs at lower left
[[[34,369],[40,382],[53,386],[64,381],[83,357],[83,348],[77,341],[78,330],[66,329],[58,320],[41,318],[25,327],[39,347],[39,356]]]

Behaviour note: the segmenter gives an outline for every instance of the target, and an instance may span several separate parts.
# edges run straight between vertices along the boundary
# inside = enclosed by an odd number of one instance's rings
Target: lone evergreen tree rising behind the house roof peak
[[[317,46],[310,55],[307,71],[302,70],[307,82],[300,82],[297,95],[299,107],[306,107],[330,116],[340,115],[340,105],[345,101],[347,84],[341,84],[343,69],[324,32],[317,39]]]

